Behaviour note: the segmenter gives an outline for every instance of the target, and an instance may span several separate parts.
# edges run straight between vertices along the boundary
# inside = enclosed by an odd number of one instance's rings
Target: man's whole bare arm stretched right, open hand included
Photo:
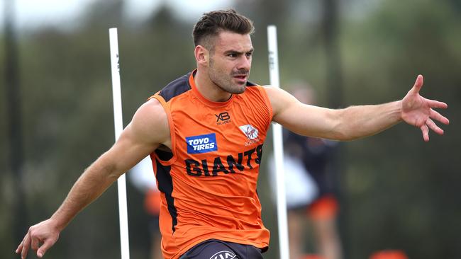
[[[418,127],[423,132],[423,139],[429,140],[429,129],[443,134],[434,120],[447,125],[449,120],[434,108],[447,108],[448,105],[437,100],[428,100],[419,95],[423,86],[423,76],[399,101],[380,105],[358,105],[345,109],[333,110],[305,105],[289,93],[277,88],[267,87],[274,111],[275,122],[287,129],[311,137],[336,140],[352,140],[382,132],[402,120]]]

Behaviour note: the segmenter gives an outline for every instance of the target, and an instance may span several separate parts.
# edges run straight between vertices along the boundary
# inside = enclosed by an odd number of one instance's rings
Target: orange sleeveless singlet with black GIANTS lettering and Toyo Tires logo
[[[244,93],[216,103],[201,96],[192,72],[151,98],[167,113],[172,142],[171,153],[151,154],[165,258],[211,238],[267,250],[256,190],[272,121],[264,88],[248,82]]]

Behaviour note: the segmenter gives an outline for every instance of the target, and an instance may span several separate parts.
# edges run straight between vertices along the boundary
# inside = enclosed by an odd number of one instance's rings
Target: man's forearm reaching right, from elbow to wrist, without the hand
[[[396,125],[401,121],[401,101],[380,105],[350,106],[339,110],[339,124],[335,131],[340,140],[367,137]]]

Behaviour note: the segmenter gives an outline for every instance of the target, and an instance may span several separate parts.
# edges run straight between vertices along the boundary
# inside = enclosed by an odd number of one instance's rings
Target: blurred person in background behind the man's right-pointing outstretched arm
[[[291,93],[301,103],[316,105],[316,95],[311,86],[297,83],[292,89]],[[284,129],[284,173],[290,258],[343,258],[336,226],[337,172],[331,167],[331,154],[336,145],[337,142],[304,137]],[[270,169],[270,183],[275,193],[276,172],[274,166],[270,166]],[[315,238],[313,242],[306,239],[307,223],[312,226],[311,234]],[[317,257],[305,253],[307,243],[314,243]]]

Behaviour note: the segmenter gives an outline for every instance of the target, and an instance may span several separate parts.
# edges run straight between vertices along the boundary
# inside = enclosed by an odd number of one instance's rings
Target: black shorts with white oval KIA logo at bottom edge
[[[262,259],[255,246],[210,239],[193,246],[179,259]]]

